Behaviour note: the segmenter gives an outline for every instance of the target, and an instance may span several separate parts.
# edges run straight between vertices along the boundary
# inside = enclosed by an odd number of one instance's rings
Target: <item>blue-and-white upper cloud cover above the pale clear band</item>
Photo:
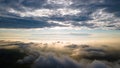
[[[120,29],[120,0],[0,0],[0,28]]]

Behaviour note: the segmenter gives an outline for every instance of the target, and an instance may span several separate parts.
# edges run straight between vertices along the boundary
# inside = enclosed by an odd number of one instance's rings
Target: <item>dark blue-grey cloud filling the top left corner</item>
[[[28,7],[28,8],[40,8],[46,2],[46,0],[1,0],[0,4],[8,8],[19,8]]]

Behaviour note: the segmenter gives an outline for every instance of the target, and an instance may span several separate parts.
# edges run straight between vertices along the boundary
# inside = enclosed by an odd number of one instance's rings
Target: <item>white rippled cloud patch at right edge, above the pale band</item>
[[[100,29],[118,29],[120,27],[120,19],[112,13],[105,12],[104,9],[98,9],[96,12],[91,14],[93,20],[88,23],[95,24]]]

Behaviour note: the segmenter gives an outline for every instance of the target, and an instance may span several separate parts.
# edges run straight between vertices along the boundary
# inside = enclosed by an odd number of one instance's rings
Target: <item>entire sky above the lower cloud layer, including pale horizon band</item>
[[[0,40],[119,43],[120,0],[0,0]]]

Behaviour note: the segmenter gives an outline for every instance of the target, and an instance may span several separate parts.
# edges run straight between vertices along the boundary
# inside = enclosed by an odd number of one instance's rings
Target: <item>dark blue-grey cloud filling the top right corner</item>
[[[75,0],[73,6],[77,8],[86,7],[91,10],[105,8],[111,13],[120,13],[120,0]]]

